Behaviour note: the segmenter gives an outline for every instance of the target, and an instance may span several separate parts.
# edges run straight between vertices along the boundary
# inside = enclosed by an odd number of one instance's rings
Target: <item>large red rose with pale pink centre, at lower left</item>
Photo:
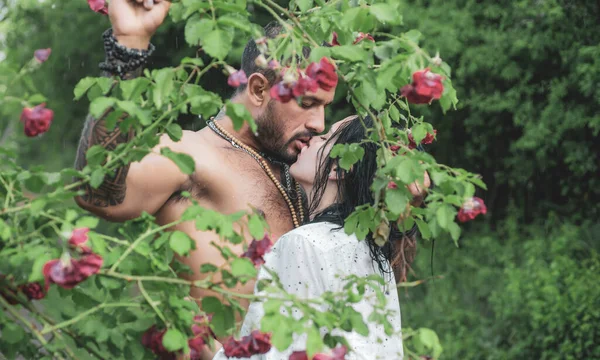
[[[80,282],[96,274],[101,267],[102,257],[97,254],[87,254],[78,260],[50,260],[42,269],[46,279],[46,290],[50,283],[55,283],[65,289],[72,289]]]

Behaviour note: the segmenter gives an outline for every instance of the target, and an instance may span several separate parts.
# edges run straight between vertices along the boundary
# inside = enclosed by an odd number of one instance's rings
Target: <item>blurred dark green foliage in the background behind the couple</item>
[[[0,141],[28,166],[70,166],[88,110],[73,87],[98,74],[100,34],[108,21],[81,1],[0,0],[4,69],[52,47],[50,60],[27,86],[46,94],[51,130],[24,135],[20,104],[0,109]],[[405,26],[423,33],[422,46],[453,69],[461,100],[443,115],[427,108],[438,160],[483,175],[489,191],[484,221],[467,227],[455,248],[422,243],[418,278],[402,290],[403,324],[436,330],[445,359],[600,358],[600,3],[597,1],[404,1]],[[256,12],[253,21],[268,16]],[[246,39],[236,39],[239,61]],[[154,38],[152,67],[192,55],[183,29],[167,23]],[[208,90],[231,89],[219,71]],[[33,90],[31,91],[33,92]],[[344,99],[331,121],[348,114]],[[182,118],[187,129],[203,126]],[[7,141],[12,141],[6,144]],[[432,254],[433,251],[433,254]]]

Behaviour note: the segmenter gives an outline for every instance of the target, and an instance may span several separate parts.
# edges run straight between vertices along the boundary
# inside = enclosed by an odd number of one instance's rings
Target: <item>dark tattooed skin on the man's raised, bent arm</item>
[[[142,68],[138,68],[124,77],[124,79],[133,79],[142,74]],[[109,76],[110,74],[105,73]],[[92,115],[88,115],[83,132],[79,139],[79,147],[77,148],[77,156],[75,158],[75,168],[83,170],[87,165],[85,154],[87,150],[94,145],[101,145],[105,149],[112,151],[119,144],[126,143],[133,138],[133,131],[123,134],[118,126],[122,120],[119,119],[117,126],[112,130],[106,128],[105,119],[110,114],[110,111],[104,113],[100,119],[95,119]],[[114,175],[106,175],[104,182],[97,189],[92,188],[89,183],[81,187],[85,193],[81,199],[86,203],[97,207],[109,207],[122,204],[125,200],[125,192],[127,186],[125,179],[129,172],[129,164],[124,165],[115,170]]]

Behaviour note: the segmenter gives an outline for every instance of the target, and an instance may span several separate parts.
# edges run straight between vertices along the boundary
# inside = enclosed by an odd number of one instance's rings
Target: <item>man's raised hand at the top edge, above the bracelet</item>
[[[166,0],[111,0],[108,16],[113,35],[128,48],[147,49],[170,6]]]

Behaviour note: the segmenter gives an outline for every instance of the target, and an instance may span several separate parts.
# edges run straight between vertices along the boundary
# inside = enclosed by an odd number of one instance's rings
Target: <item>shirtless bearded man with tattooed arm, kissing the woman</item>
[[[127,48],[148,49],[150,38],[166,17],[169,5],[165,0],[112,0],[108,13],[114,39]],[[110,39],[105,41],[110,42]],[[251,207],[258,209],[270,226],[273,240],[291,230],[299,221],[300,210],[293,206],[296,204],[293,196],[282,191],[287,183],[280,175],[282,164],[260,155],[257,158],[257,153],[294,162],[312,135],[324,130],[325,106],[333,100],[335,88],[307,93],[301,105],[295,101],[275,101],[269,95],[275,79],[268,69],[255,65],[258,54],[256,44],[250,41],[242,58],[248,83],[238,88],[231,99],[250,111],[258,125],[258,136],[248,126],[235,131],[227,116],[219,116],[214,125],[200,131],[185,131],[179,142],[163,136],[157,148],[141,161],[118,169],[114,176],[107,176],[98,189],[85,188],[85,194],[76,199],[77,203],[111,221],[132,219],[146,211],[153,214],[159,224],[167,224],[179,219],[191,205],[190,199],[181,196],[181,192],[187,191],[201,206],[224,214],[248,211]],[[107,59],[105,64],[108,65],[103,68],[110,73],[117,69],[111,68],[111,64],[118,61],[121,60]],[[127,64],[119,64],[121,69],[128,69]],[[111,75],[116,75],[115,72],[117,70]],[[141,67],[119,75],[133,78],[140,74]],[[85,167],[85,152],[89,147],[100,144],[113,149],[130,139],[132,134],[121,134],[118,127],[108,131],[103,119],[88,117],[86,120],[76,160],[78,169]],[[232,140],[237,146],[232,146]],[[159,155],[162,147],[191,156],[195,160],[194,173],[183,174],[171,160]],[[199,272],[201,264],[220,266],[224,263],[218,250],[210,245],[218,241],[215,233],[198,231],[193,222],[180,224],[174,230],[181,230],[196,241],[196,250],[182,259],[194,271],[192,279],[203,277]],[[243,252],[242,245],[231,248],[238,255]],[[244,293],[252,290],[252,283],[237,289]],[[206,293],[192,289],[191,295],[201,298]]]

